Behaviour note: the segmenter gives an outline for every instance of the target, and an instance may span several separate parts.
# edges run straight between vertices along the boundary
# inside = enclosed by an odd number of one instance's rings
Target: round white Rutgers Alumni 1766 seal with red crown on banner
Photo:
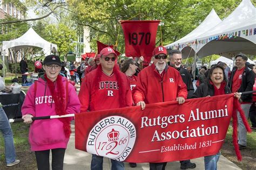
[[[136,140],[136,128],[121,116],[100,120],[90,131],[86,150],[102,157],[124,161],[131,153]]]

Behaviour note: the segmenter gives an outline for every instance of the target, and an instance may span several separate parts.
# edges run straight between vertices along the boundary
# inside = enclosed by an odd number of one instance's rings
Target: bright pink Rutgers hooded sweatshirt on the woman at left
[[[64,87],[66,80],[62,77]],[[67,114],[80,112],[80,102],[75,88],[69,83],[68,86]],[[66,94],[66,91],[63,91]],[[56,115],[55,103],[46,80],[37,80],[35,94],[35,83],[29,88],[22,105],[22,115],[31,114],[33,117]],[[71,120],[71,118],[70,118]],[[69,138],[65,137],[63,123],[56,119],[41,119],[33,121],[29,130],[29,143],[32,151],[50,150],[53,148],[66,148]]]

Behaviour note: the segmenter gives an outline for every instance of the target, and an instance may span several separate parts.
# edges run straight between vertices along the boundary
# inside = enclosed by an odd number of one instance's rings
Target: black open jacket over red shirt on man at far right
[[[231,72],[230,79],[228,80],[228,87],[230,87],[231,91],[232,91],[233,77],[236,71],[237,71],[237,67],[234,67]],[[245,70],[242,73],[242,84],[238,92],[252,91],[253,84],[255,81],[254,77],[255,77],[255,73],[253,72],[253,70],[245,66]],[[237,80],[234,80],[234,81],[237,81]],[[241,95],[241,100],[243,102],[252,102],[252,94]]]

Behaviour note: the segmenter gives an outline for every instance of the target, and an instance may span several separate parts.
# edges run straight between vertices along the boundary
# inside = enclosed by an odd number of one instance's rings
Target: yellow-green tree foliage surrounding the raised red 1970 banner
[[[169,44],[195,29],[212,8],[223,19],[240,2],[241,0],[70,0],[69,5],[73,19],[90,28],[91,46],[95,51],[96,40],[114,45],[118,39],[118,50],[123,53],[124,37],[122,29],[118,36],[119,20],[161,20],[161,32],[158,28],[156,42],[157,45],[160,44],[162,33],[163,44]]]

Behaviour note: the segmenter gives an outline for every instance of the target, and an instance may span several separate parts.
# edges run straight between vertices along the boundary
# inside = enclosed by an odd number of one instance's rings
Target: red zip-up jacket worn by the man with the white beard
[[[169,102],[177,97],[186,99],[187,87],[175,68],[166,66],[163,77],[154,64],[139,72],[137,86],[133,90],[135,103]]]

